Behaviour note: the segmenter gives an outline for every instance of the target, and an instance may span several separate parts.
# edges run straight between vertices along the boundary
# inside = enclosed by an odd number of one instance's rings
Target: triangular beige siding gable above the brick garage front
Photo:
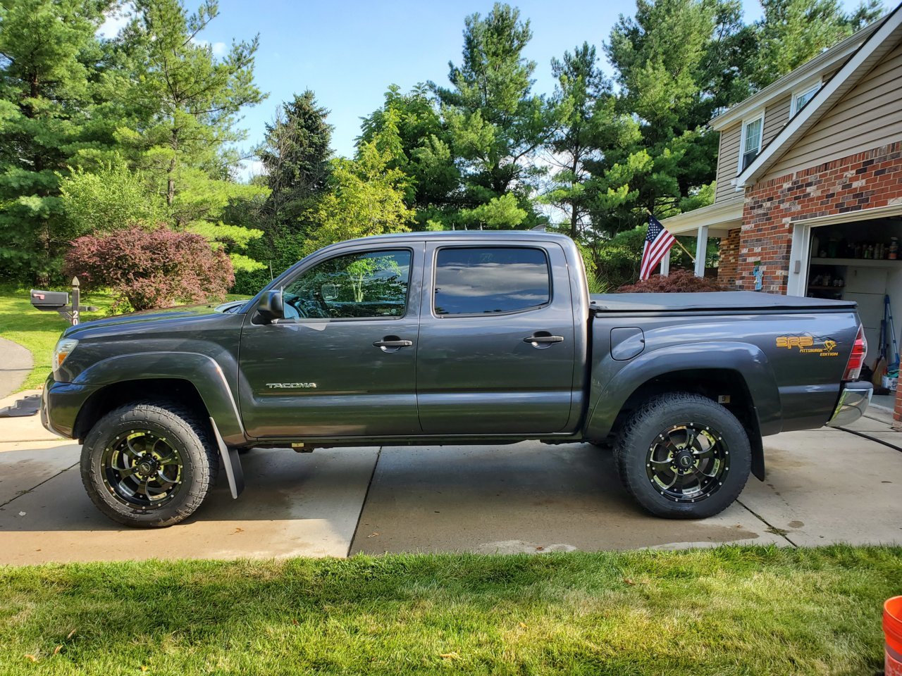
[[[902,138],[902,45],[824,114],[790,147],[768,180],[815,164],[848,157]]]

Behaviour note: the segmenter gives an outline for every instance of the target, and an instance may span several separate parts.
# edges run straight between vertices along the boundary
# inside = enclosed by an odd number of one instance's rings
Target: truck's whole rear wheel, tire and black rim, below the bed
[[[649,399],[630,416],[614,461],[623,486],[655,516],[705,518],[739,497],[751,449],[730,411],[677,392]]]

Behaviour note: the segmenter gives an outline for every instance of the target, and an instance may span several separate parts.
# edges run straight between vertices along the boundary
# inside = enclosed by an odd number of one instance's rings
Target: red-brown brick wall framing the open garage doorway
[[[849,213],[852,222],[856,211],[894,204],[902,204],[902,142],[747,188],[736,287],[755,288],[753,271],[760,261],[762,290],[786,293],[792,221]]]

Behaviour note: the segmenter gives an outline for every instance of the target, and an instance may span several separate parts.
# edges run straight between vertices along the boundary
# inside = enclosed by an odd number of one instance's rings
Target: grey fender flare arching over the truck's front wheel
[[[124,380],[179,379],[198,390],[207,416],[216,419],[218,432],[228,445],[248,441],[238,405],[222,367],[198,352],[134,352],[109,357],[81,371],[74,385],[99,390]],[[206,417],[206,416],[205,416]]]

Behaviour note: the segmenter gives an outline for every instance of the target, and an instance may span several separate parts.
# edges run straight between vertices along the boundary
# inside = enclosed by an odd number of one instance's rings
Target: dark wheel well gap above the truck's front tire
[[[179,378],[137,379],[107,385],[87,399],[72,429],[72,436],[83,443],[87,433],[103,416],[114,408],[139,401],[170,401],[201,412],[207,418],[207,405],[198,388],[189,380]]]

